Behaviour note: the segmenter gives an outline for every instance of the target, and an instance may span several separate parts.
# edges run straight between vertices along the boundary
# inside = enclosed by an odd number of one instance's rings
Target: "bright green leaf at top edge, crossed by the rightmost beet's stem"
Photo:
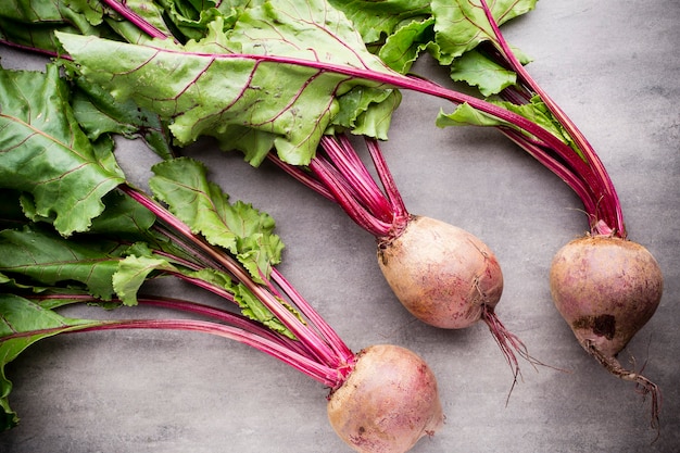
[[[537,0],[488,1],[492,15],[499,25],[528,13]],[[432,15],[436,18],[436,40],[441,53],[440,63],[451,64],[453,59],[476,48],[480,42],[494,41],[491,24],[487,20],[479,0],[432,0]]]

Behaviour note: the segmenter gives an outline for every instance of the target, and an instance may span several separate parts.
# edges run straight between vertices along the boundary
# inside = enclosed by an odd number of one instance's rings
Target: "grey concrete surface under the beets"
[[[542,0],[504,27],[599,150],[631,239],[664,269],[656,315],[621,353],[625,363],[645,364],[663,390],[653,444],[648,404],[581,350],[550,299],[552,255],[587,227],[578,200],[493,130],[438,129],[432,118],[443,104],[405,93],[385,150],[412,213],[466,228],[495,251],[505,276],[500,317],[533,356],[569,372],[522,363],[507,405],[511,370],[484,325],[446,331],[414,322],[382,280],[373,238],[339,209],[270,166],[253,169],[209,146],[193,150],[235,199],[274,215],[288,244],[281,272],[351,348],[390,342],[429,362],[446,424],[413,452],[680,451],[678,24],[676,0]],[[7,48],[0,55],[8,67],[41,65]],[[139,143],[124,143],[119,155],[143,181],[152,155]],[[63,336],[26,351],[8,376],[22,420],[0,433],[2,453],[349,451],[326,420],[322,386],[217,338]]]

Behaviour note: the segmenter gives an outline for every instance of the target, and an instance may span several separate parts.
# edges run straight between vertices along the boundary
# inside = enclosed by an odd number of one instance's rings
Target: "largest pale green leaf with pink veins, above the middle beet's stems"
[[[58,34],[85,77],[113,97],[134,99],[171,121],[179,144],[201,135],[244,140],[231,143],[254,165],[262,162],[257,135],[272,138],[279,156],[307,164],[338,112],[336,97],[353,86],[377,87],[319,64],[387,72],[368,52],[352,23],[320,0],[281,0],[249,9],[228,33],[222,17],[200,41],[169,40],[153,46],[123,45],[92,37]],[[308,46],[314,42],[314,48]],[[260,62],[257,55],[304,61],[304,65]],[[255,143],[255,146],[253,146]],[[266,150],[268,152],[268,150]]]

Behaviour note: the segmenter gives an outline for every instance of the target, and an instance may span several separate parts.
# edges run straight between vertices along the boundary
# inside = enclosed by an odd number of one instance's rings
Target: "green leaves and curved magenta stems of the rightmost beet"
[[[626,238],[626,228],[616,189],[604,165],[583,134],[551,99],[525,67],[530,60],[511,47],[499,26],[533,9],[536,1],[501,1],[491,7],[486,0],[479,2],[453,2],[443,9],[439,1],[432,2],[432,11],[424,16],[412,17],[411,27],[386,29],[387,38],[378,41],[370,30],[357,27],[368,46],[379,46],[378,54],[401,73],[411,70],[421,53],[432,55],[450,70],[453,80],[476,87],[480,98],[515,112],[541,127],[551,130],[566,146],[534,140],[525,129],[492,112],[469,109],[462,104],[452,114],[440,115],[441,126],[471,124],[494,126],[511,140],[529,152],[544,166],[559,176],[584,204],[589,226],[593,234],[615,235]],[[338,7],[340,8],[340,7]],[[360,10],[362,11],[362,10]],[[355,24],[362,24],[362,13],[355,14]],[[386,7],[385,14],[390,14]],[[469,29],[459,26],[466,20]],[[396,60],[391,55],[401,55]],[[496,99],[498,98],[498,99]],[[487,114],[480,114],[482,111]]]

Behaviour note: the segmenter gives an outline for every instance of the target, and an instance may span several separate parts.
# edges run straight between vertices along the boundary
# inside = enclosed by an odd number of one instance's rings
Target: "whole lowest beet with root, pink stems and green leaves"
[[[0,70],[0,77],[17,87],[3,92],[0,115],[0,128],[8,131],[0,142],[0,193],[5,200],[0,217],[1,429],[18,423],[9,404],[7,363],[43,338],[109,329],[221,336],[328,387],[333,414],[342,413],[344,404],[376,404],[380,418],[398,420],[387,433],[369,420],[356,427],[358,433],[333,424],[361,452],[405,452],[439,429],[443,414],[427,364],[392,345],[354,354],[274,267],[284,246],[273,232],[270,216],[250,204],[231,203],[209,181],[206,168],[188,158],[156,164],[149,181],[153,197],[147,194],[126,181],[109,133],[92,142],[80,129],[59,66],[50,64],[46,73]],[[73,173],[77,180],[71,179]],[[63,190],[66,187],[70,190]],[[86,202],[89,210],[79,214],[83,223],[58,222]],[[217,294],[240,314],[140,294],[146,281],[161,277]],[[200,319],[80,319],[56,313],[76,303],[108,309],[154,305]],[[403,374],[375,373],[385,366],[376,351],[385,350],[404,357]],[[350,376],[363,379],[357,374],[373,375],[379,390],[357,392],[352,386],[338,403],[336,392]],[[419,397],[412,403],[404,398],[408,394]]]

